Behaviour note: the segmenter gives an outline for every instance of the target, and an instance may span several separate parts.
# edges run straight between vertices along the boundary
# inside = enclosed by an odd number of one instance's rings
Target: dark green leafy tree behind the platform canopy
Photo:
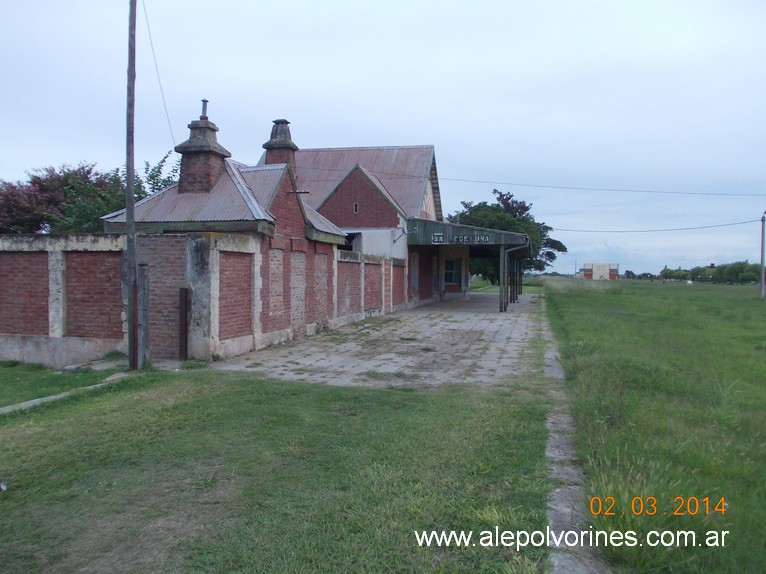
[[[533,256],[524,261],[525,270],[544,271],[556,261],[557,253],[566,253],[566,246],[550,236],[553,228],[536,221],[532,216],[531,203],[515,199],[512,193],[503,193],[497,189],[493,189],[492,193],[497,203],[489,204],[482,201],[473,204],[463,201],[461,202],[463,209],[448,215],[447,220],[453,223],[529,235]],[[496,280],[498,272],[499,264],[494,259],[471,259],[471,273],[482,275],[493,281],[493,279]]]

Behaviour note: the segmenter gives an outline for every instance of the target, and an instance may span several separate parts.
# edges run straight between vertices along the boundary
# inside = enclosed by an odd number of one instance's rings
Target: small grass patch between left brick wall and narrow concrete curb
[[[115,370],[78,369],[63,373],[41,365],[0,362],[0,407],[87,387],[103,381]]]

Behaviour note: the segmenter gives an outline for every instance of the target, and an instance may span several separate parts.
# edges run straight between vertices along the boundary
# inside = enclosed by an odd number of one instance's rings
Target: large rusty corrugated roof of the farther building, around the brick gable
[[[298,189],[309,192],[303,197],[314,209],[318,209],[359,164],[378,179],[409,217],[420,215],[433,163],[433,146],[324,148],[295,152]],[[436,200],[440,201],[439,198]]]

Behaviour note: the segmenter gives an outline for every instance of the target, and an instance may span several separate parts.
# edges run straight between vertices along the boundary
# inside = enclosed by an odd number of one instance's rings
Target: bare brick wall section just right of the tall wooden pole
[[[149,345],[152,357],[177,359],[179,289],[188,287],[186,236],[139,236],[137,257],[140,263],[148,264]],[[192,301],[197,296],[192,293]]]

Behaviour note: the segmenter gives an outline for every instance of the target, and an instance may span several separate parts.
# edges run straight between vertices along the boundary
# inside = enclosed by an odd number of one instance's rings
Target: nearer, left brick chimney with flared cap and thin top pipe
[[[218,127],[207,119],[207,100],[202,100],[202,115],[189,130],[189,139],[175,147],[181,154],[178,193],[210,193],[231,154],[216,139]]]

